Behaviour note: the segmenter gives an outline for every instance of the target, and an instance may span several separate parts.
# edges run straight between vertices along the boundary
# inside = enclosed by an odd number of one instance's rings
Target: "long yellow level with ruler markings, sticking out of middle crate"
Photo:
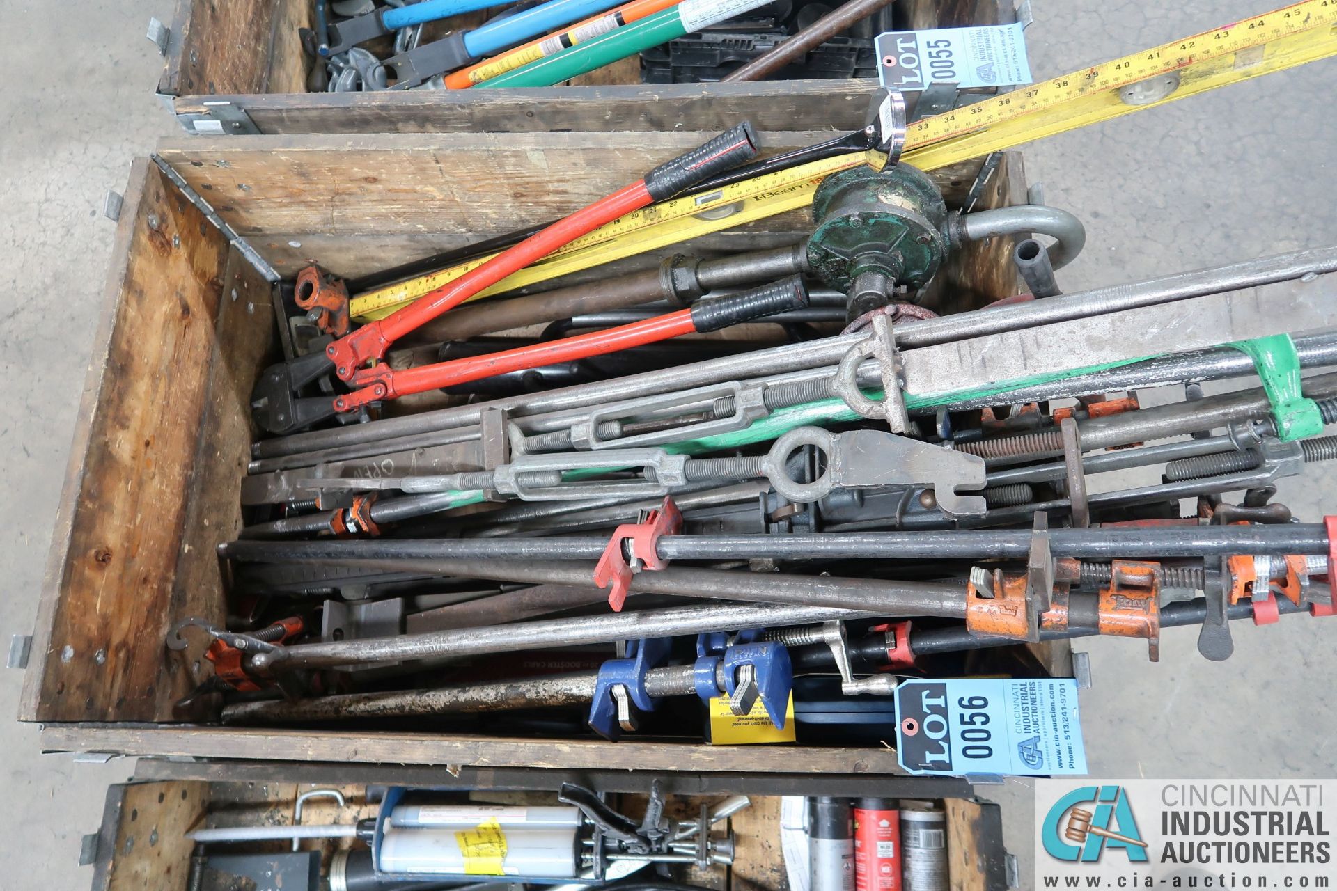
[[[1304,0],[1102,65],[989,96],[910,124],[902,160],[920,170],[936,170],[1325,59],[1337,55],[1334,25],[1337,0]],[[853,152],[726,186],[707,195],[654,204],[576,239],[477,297],[550,281],[806,207],[825,176],[864,163],[878,166],[880,159],[877,152]],[[388,315],[487,259],[479,258],[361,294],[352,301],[352,315],[358,321]]]

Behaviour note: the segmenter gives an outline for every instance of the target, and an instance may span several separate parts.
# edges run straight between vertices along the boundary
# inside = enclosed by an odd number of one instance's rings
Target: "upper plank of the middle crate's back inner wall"
[[[234,136],[168,139],[158,154],[243,238],[302,231],[481,238],[570,214],[709,136]],[[771,136],[774,151],[820,138]]]

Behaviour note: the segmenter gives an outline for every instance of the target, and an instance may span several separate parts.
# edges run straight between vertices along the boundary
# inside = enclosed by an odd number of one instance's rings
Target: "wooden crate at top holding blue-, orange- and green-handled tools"
[[[190,132],[713,131],[747,119],[759,131],[817,120],[865,123],[872,80],[640,84],[636,57],[562,87],[306,92],[312,59],[297,37],[312,0],[178,0],[158,94]],[[900,0],[897,28],[1016,20],[1013,0]],[[910,96],[913,100],[913,95]]]

